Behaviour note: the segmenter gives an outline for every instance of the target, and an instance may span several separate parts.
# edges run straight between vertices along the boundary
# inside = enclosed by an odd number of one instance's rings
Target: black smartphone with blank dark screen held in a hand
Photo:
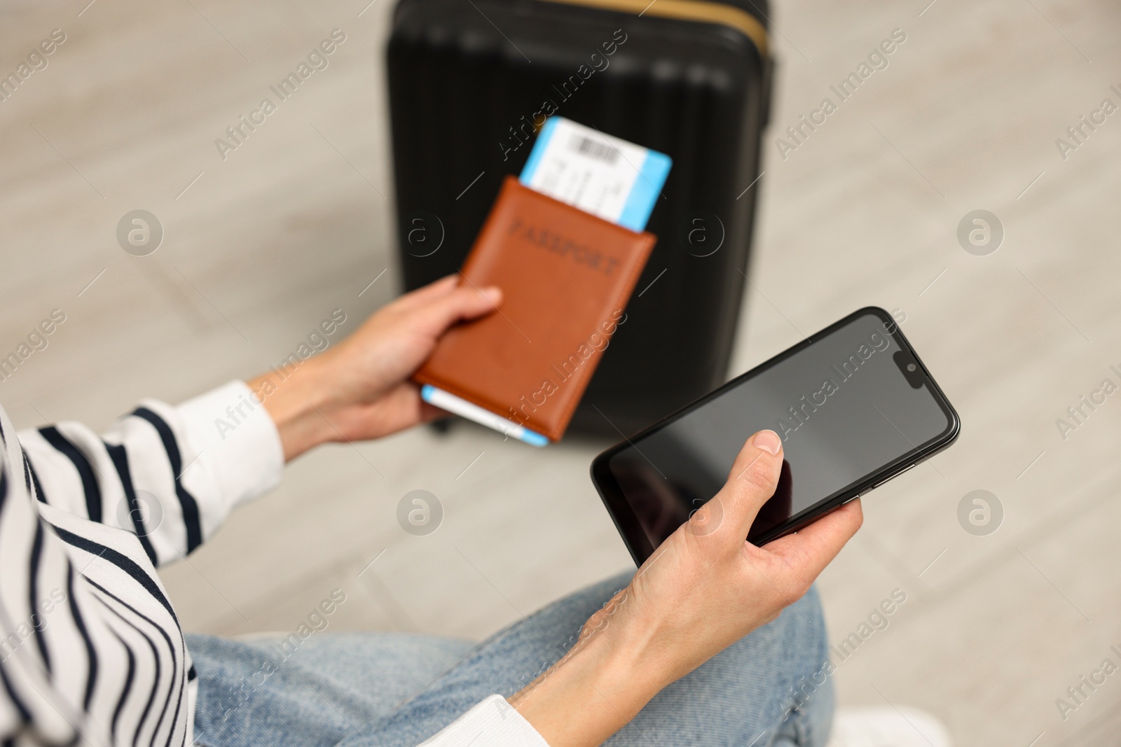
[[[765,428],[784,459],[748,533],[757,545],[937,454],[961,420],[892,316],[854,311],[595,458],[592,482],[636,563],[723,487]]]

